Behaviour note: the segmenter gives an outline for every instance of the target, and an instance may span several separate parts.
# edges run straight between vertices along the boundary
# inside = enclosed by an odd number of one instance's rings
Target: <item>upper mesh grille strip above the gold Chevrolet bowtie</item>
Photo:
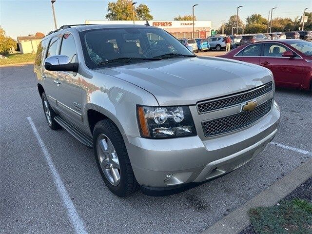
[[[272,82],[267,83],[260,88],[249,90],[242,94],[237,94],[231,97],[219,98],[215,100],[205,101],[197,104],[197,110],[199,114],[204,114],[209,111],[221,109],[228,106],[233,106],[245,101],[258,98],[261,95],[269,93],[272,90]]]

